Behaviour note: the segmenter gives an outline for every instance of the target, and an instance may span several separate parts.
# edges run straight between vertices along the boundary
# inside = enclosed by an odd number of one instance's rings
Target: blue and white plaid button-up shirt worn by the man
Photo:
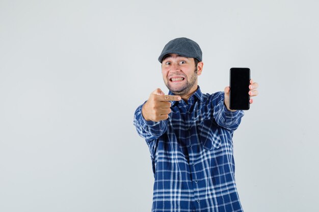
[[[143,105],[135,112],[155,177],[152,211],[243,211],[232,135],[244,112],[228,111],[223,92],[202,94],[199,86],[188,102],[171,103],[169,118],[159,122],[144,119]]]

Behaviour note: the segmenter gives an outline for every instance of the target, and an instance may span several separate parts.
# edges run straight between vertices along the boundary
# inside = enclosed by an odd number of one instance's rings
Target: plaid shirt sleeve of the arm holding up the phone
[[[234,131],[238,128],[241,123],[242,117],[244,116],[243,110],[230,111],[224,104],[224,92],[218,92],[214,94],[213,104],[214,104],[214,117],[216,123],[227,129]]]

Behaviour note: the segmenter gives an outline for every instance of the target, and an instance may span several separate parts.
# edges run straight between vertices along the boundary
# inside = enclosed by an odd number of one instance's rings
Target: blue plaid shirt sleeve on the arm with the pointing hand
[[[161,120],[159,122],[145,120],[142,114],[142,107],[144,104],[136,109],[133,124],[136,127],[138,134],[149,142],[159,138],[167,131],[167,120]]]

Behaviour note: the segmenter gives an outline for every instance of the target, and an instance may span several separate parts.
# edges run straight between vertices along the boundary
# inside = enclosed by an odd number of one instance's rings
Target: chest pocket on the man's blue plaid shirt
[[[199,131],[199,138],[204,148],[210,150],[212,147],[221,147],[222,140],[215,120],[203,120],[199,125]]]

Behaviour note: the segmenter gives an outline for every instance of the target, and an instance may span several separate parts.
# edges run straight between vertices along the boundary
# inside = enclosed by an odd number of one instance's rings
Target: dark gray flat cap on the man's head
[[[159,63],[163,62],[163,58],[166,54],[178,54],[185,57],[193,57],[202,61],[202,50],[199,45],[188,38],[175,38],[168,42],[161,55],[158,57]]]

